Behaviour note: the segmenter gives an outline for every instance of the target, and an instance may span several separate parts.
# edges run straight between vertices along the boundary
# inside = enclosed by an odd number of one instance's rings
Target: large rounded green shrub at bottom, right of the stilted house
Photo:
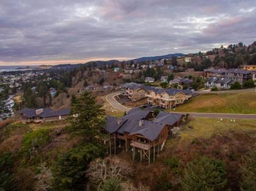
[[[190,162],[182,180],[183,190],[219,190],[226,184],[224,162],[207,157]]]

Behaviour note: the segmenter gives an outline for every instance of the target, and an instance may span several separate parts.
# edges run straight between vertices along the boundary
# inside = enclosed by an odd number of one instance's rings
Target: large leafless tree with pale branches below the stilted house
[[[101,186],[102,182],[108,178],[127,179],[132,175],[133,168],[130,167],[128,162],[121,161],[118,157],[96,159],[91,162],[87,176],[94,185]]]

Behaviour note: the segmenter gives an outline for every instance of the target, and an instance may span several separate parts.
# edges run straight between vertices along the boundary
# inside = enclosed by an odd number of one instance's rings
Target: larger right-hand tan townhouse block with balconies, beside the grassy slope
[[[161,108],[170,109],[177,105],[187,102],[193,96],[190,89],[151,89],[147,91],[148,104],[152,106],[160,106]]]

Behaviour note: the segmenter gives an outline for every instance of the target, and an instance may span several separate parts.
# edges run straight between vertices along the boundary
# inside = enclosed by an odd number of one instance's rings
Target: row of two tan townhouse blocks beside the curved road
[[[174,108],[194,96],[194,92],[190,89],[160,89],[138,83],[127,83],[123,85],[123,88],[125,89],[124,95],[132,102],[147,98],[149,105],[160,106],[165,109]]]

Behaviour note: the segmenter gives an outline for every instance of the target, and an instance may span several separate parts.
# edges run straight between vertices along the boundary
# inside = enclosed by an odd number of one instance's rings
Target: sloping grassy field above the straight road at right
[[[176,111],[256,114],[256,92],[202,94],[180,105]]]

